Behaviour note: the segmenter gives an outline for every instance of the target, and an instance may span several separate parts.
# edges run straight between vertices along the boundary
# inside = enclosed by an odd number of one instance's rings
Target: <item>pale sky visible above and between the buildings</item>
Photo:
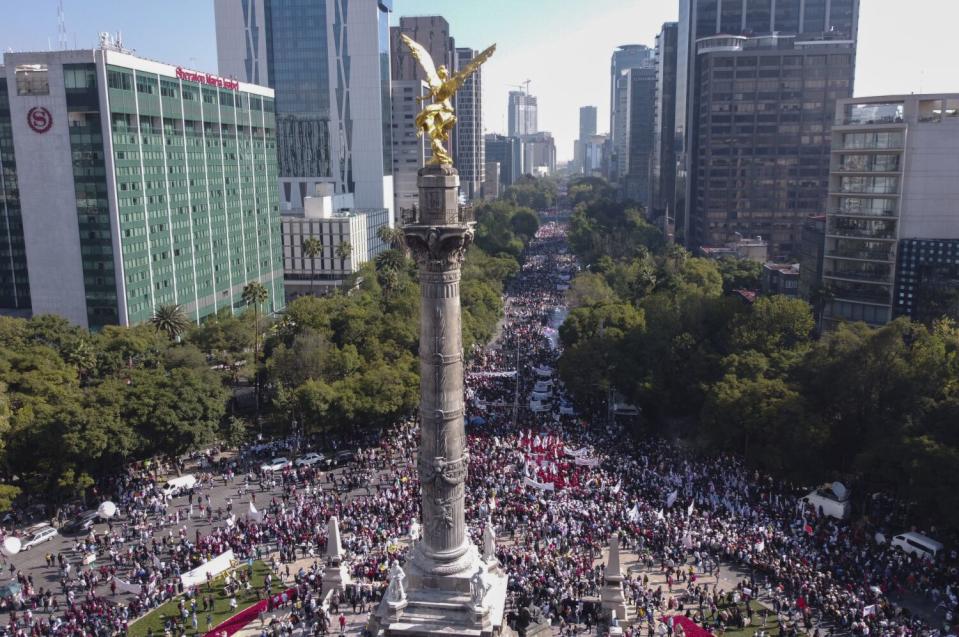
[[[359,1],[359,0],[354,0]],[[369,0],[366,0],[369,1]],[[856,94],[959,92],[951,42],[956,0],[861,0]],[[569,159],[578,109],[599,107],[609,127],[609,57],[619,44],[652,45],[675,20],[677,0],[394,0],[401,15],[439,14],[457,46],[497,51],[483,68],[484,127],[506,128],[511,84],[532,80],[539,124]],[[216,71],[212,0],[64,0],[68,45],[92,47],[97,32],[123,32],[139,55]],[[57,46],[57,0],[0,0],[0,48]]]

